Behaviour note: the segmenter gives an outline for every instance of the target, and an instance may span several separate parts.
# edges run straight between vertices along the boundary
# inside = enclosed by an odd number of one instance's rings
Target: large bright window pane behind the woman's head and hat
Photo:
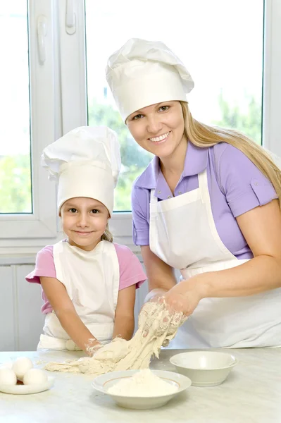
[[[161,40],[185,63],[195,82],[192,115],[241,130],[261,144],[263,0],[85,0],[89,125],[117,131],[123,168],[115,210],[130,210],[132,181],[150,156],[132,140],[115,110],[104,69],[127,39]]]

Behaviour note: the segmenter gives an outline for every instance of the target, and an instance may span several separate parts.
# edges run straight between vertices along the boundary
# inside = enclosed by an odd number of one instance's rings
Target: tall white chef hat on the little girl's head
[[[43,151],[41,164],[58,182],[58,214],[63,203],[89,197],[113,212],[114,188],[121,166],[117,134],[106,126],[70,130]]]

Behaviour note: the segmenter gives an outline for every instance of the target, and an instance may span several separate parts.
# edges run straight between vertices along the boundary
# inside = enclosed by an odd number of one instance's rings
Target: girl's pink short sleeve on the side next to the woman
[[[139,288],[146,281],[146,274],[139,259],[125,245],[114,244],[119,262],[120,283],[119,290],[136,285]]]

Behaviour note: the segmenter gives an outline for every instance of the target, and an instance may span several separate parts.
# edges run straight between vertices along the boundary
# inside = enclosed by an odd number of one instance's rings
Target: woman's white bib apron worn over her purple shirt
[[[158,202],[151,190],[151,251],[189,279],[239,266],[220,240],[213,220],[207,171],[199,188]],[[239,298],[204,298],[170,348],[248,348],[281,345],[281,288]]]

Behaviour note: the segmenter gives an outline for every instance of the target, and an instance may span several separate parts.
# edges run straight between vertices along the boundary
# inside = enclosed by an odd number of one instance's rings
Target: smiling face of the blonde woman
[[[186,142],[180,102],[144,107],[130,114],[126,123],[137,143],[162,159],[172,156],[175,149]]]

